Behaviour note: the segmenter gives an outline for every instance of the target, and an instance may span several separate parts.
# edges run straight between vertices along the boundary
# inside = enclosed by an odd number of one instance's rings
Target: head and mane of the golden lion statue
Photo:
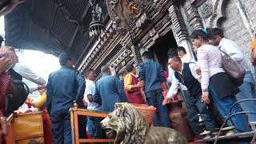
[[[115,143],[143,143],[148,124],[133,105],[116,103],[114,112],[110,113],[101,122],[106,134],[117,132]]]

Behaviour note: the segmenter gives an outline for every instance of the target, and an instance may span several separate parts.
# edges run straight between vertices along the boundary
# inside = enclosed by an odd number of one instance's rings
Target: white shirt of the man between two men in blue
[[[91,94],[94,96],[96,91],[95,83],[94,81],[91,81],[89,79],[86,79],[86,89],[84,94],[84,99],[88,103],[87,110],[102,110],[102,106],[98,105],[96,102],[89,102],[87,95]]]

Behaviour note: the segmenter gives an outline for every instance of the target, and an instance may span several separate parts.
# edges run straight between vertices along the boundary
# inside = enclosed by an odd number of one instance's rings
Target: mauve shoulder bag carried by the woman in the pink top
[[[238,86],[241,86],[243,83],[243,78],[246,75],[246,69],[238,62],[234,61],[228,54],[222,51],[222,65],[223,69],[226,71],[226,74],[230,75],[230,78],[236,82]]]

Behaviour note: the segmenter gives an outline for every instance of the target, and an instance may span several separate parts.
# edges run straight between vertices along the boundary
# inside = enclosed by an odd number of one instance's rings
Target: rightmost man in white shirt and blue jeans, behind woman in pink
[[[246,98],[256,98],[255,82],[250,72],[246,59],[242,54],[240,47],[230,39],[224,38],[223,31],[218,28],[212,28],[207,31],[210,35],[210,44],[219,46],[226,54],[230,55],[234,61],[240,63],[246,69],[246,76],[243,79],[242,86],[239,86],[240,93],[236,95],[238,101]],[[256,102],[241,102],[242,110],[256,112]],[[256,115],[249,114],[249,121],[256,122]]]

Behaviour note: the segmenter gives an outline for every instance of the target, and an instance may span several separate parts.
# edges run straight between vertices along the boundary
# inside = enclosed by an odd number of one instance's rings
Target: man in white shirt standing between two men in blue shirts
[[[96,91],[95,82],[94,82],[96,78],[96,74],[94,70],[92,69],[86,70],[85,77],[86,77],[86,89],[84,94],[84,100],[87,103],[87,110],[102,111],[102,106],[100,106],[96,102],[93,102],[94,94]],[[100,124],[102,119],[103,118],[96,118],[96,117],[89,117],[87,119],[88,130],[90,133],[94,135],[94,138],[104,138],[104,133]],[[92,125],[90,125],[90,122],[92,122]],[[90,131],[91,129],[92,131]]]

